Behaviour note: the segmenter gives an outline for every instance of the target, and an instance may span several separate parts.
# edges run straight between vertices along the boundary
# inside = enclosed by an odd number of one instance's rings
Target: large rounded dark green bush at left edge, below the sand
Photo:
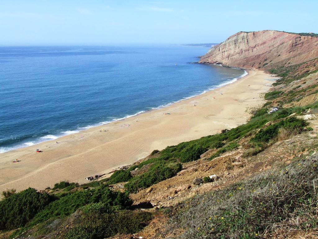
[[[0,229],[22,227],[51,202],[47,193],[33,188],[10,195],[0,201]]]

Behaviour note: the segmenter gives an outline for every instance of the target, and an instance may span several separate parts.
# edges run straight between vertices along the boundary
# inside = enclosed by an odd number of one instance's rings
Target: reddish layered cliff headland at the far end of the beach
[[[318,57],[318,37],[278,31],[239,32],[212,47],[200,63],[271,69]]]

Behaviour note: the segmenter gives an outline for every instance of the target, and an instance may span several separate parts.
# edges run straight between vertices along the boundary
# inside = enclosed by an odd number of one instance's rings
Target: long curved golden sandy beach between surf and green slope
[[[134,163],[163,149],[245,123],[273,81],[249,71],[238,81],[168,107],[0,154],[0,192],[44,189]],[[58,143],[56,143],[58,141]],[[36,149],[43,152],[36,153]],[[13,163],[16,159],[20,162]]]

